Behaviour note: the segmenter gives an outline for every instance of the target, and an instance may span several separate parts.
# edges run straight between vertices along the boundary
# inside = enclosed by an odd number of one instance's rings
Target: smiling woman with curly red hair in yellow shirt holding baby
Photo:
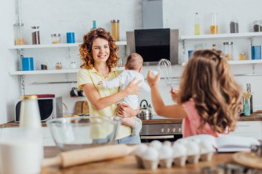
[[[119,87],[114,89],[105,89],[97,87],[101,80],[111,80],[117,77],[121,72],[115,69],[119,57],[117,56],[118,46],[103,28],[92,30],[83,36],[83,43],[79,51],[83,64],[77,74],[77,85],[83,89],[88,100],[90,116],[136,116],[139,109],[134,110],[128,105],[120,105],[117,108],[117,102],[125,96],[138,94],[140,91],[139,83],[134,80],[123,91]],[[103,142],[101,140],[110,127],[101,127],[100,130],[92,130],[93,141]],[[95,132],[95,133],[94,133]],[[139,135],[132,136],[130,127],[121,125],[117,134],[116,143],[139,143]]]

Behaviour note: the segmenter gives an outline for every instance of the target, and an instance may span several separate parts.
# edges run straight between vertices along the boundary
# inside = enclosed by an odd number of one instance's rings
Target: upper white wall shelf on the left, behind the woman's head
[[[82,43],[59,43],[59,44],[39,44],[39,45],[12,45],[8,49],[28,49],[28,48],[51,48],[51,47],[79,47]],[[117,41],[117,45],[126,45],[126,41]]]

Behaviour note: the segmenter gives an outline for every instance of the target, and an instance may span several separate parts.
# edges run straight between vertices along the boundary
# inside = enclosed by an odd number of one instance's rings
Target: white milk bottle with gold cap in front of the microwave
[[[37,96],[22,96],[19,127],[39,128],[41,118]]]

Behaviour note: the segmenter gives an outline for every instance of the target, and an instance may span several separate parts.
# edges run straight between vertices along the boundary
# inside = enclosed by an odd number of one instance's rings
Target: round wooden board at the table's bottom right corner
[[[233,155],[233,160],[244,166],[262,169],[262,157],[252,152],[239,152]]]

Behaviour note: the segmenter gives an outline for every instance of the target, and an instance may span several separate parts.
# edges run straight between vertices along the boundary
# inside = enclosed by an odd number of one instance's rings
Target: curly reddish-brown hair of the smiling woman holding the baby
[[[103,28],[97,28],[97,30],[92,30],[83,36],[83,43],[79,45],[80,58],[83,64],[80,65],[81,68],[91,69],[94,67],[94,58],[92,57],[92,44],[94,39],[102,38],[108,41],[110,55],[106,61],[106,65],[111,69],[117,66],[119,61],[119,56],[117,52],[119,47],[116,45],[115,41],[112,39],[110,32],[107,32]]]

